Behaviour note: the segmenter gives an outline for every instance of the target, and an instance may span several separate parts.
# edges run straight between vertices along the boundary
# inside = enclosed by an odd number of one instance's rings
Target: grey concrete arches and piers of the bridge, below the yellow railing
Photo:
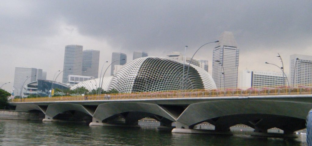
[[[305,128],[305,118],[312,108],[311,102],[293,100],[212,100],[193,104],[157,104],[156,102],[103,102],[98,105],[73,103],[17,104],[16,110],[38,110],[45,114],[43,121],[85,122],[90,126],[139,127],[138,120],[149,117],[177,133],[231,134],[230,127],[245,124],[258,133],[279,128],[284,134]],[[208,122],[213,131],[194,129]],[[207,132],[208,131],[208,132]]]

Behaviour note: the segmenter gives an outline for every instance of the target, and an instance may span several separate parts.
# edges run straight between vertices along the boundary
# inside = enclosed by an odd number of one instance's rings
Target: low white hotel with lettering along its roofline
[[[241,89],[274,88],[283,85],[287,85],[287,80],[283,81],[283,72],[244,70],[240,75]]]

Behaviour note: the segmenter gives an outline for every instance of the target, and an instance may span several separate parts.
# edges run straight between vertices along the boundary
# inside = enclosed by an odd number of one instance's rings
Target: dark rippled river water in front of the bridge
[[[208,146],[303,146],[299,138],[252,137],[234,131],[233,136],[175,134],[155,127],[121,128],[25,120],[0,120],[0,145],[208,145]]]

